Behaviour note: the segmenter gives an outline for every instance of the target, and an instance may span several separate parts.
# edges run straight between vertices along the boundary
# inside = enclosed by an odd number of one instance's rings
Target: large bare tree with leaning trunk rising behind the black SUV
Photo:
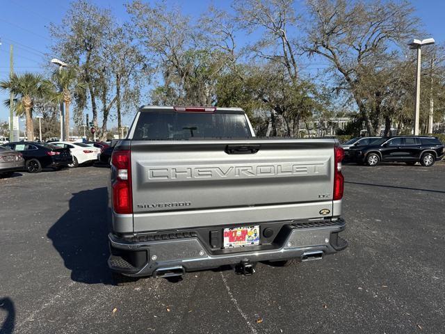
[[[308,0],[307,6],[307,42],[302,49],[330,61],[346,81],[369,134],[374,134],[362,95],[366,77],[361,70],[378,59],[384,66],[389,46],[406,42],[417,31],[414,9],[406,1]]]

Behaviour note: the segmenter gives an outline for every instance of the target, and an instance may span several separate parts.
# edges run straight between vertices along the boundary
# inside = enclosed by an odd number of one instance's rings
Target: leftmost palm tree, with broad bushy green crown
[[[25,114],[26,136],[29,141],[34,140],[33,106],[36,99],[44,98],[51,94],[49,81],[41,74],[26,72],[24,74],[11,74],[9,80],[0,81],[0,88],[9,90],[15,100],[15,112],[18,116]],[[5,101],[9,106],[9,100]]]

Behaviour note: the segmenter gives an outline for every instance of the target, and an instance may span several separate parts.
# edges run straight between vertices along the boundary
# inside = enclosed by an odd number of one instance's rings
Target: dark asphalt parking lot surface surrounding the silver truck
[[[107,168],[0,179],[0,333],[444,333],[445,164],[343,174],[343,252],[126,287],[106,267]]]

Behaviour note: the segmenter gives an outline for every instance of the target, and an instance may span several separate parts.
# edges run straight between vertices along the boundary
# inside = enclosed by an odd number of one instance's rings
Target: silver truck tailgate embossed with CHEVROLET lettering
[[[334,143],[132,141],[133,230],[332,216]]]

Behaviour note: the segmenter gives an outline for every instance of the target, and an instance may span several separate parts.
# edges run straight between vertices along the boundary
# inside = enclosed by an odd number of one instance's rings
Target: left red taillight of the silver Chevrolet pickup
[[[111,155],[111,164],[116,170],[115,181],[112,184],[113,209],[117,214],[132,214],[130,151],[114,151]]]

